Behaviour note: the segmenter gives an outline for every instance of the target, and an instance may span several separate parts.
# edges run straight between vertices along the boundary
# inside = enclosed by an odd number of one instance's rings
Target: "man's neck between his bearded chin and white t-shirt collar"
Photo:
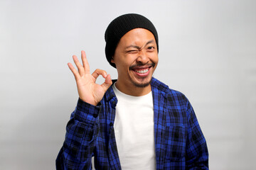
[[[122,84],[120,81],[118,81],[115,84],[115,86],[117,87],[117,89],[119,91],[121,91],[124,94],[128,94],[130,96],[144,96],[146,94],[149,94],[149,92],[151,91],[151,85],[149,84],[149,86],[146,87],[138,87],[135,86],[134,84],[130,84],[129,86]]]

